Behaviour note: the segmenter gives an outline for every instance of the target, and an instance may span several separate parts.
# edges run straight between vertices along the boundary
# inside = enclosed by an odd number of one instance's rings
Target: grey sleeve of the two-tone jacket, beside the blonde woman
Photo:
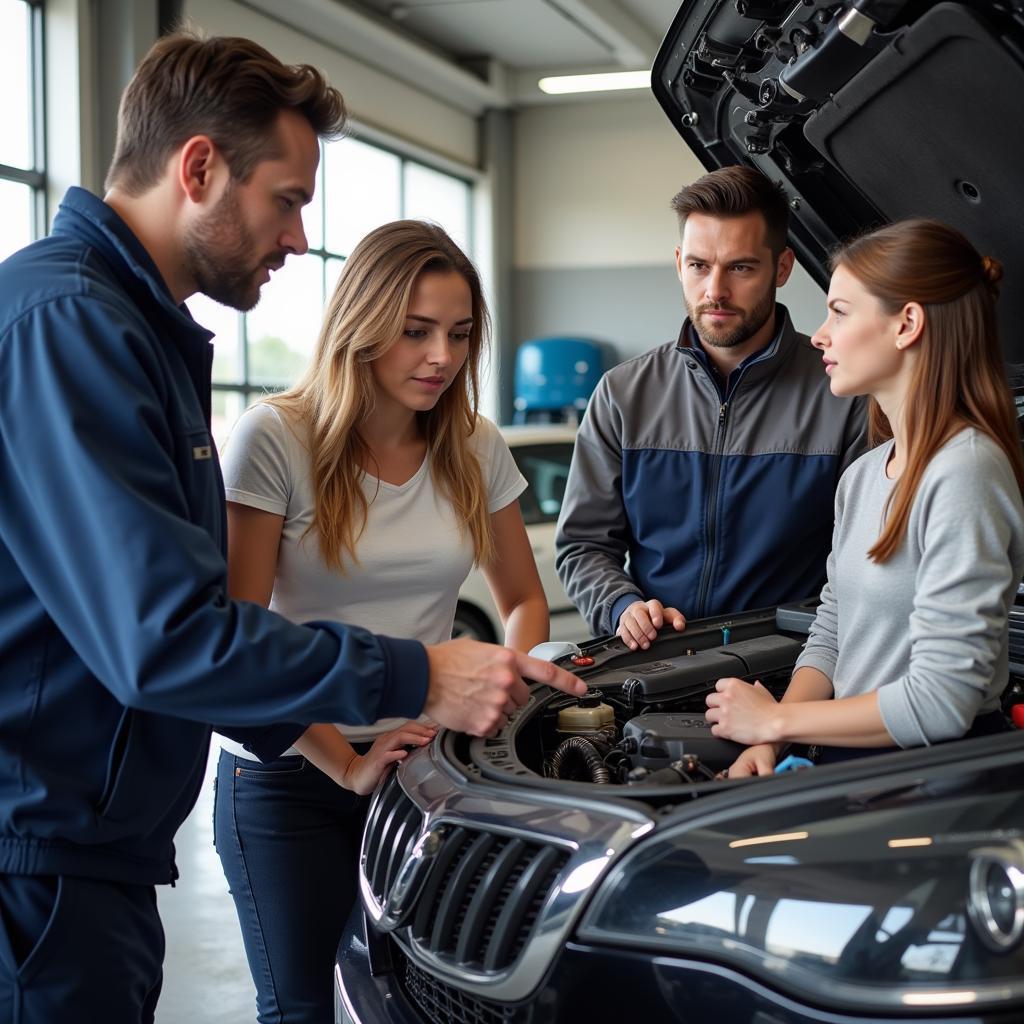
[[[595,635],[615,631],[616,602],[643,596],[625,567],[629,523],[622,476],[622,420],[605,376],[577,434],[555,534],[558,578]]]

